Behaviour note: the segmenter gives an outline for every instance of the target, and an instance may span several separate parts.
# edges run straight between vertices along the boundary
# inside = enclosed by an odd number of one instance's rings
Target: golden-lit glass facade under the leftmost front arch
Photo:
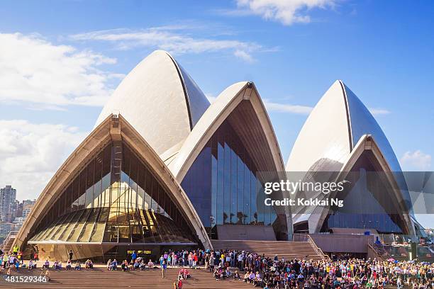
[[[39,224],[30,244],[196,243],[165,188],[122,142],[91,159]]]

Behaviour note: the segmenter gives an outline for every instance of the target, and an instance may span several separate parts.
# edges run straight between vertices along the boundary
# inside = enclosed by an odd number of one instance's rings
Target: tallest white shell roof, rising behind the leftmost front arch
[[[184,141],[208,106],[189,74],[169,53],[157,50],[123,79],[95,127],[111,113],[121,113],[162,154]]]

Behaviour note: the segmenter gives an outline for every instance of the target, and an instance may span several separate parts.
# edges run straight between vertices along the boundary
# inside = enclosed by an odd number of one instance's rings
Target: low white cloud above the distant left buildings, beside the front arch
[[[39,196],[86,134],[67,125],[0,120],[0,135],[0,186],[12,185],[26,199]]]

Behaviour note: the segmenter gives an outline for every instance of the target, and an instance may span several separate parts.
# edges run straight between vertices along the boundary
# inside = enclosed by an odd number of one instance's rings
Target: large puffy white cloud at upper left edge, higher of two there
[[[40,35],[0,33],[0,43],[0,101],[6,103],[101,106],[112,93],[109,79],[119,77],[99,69],[115,59]]]

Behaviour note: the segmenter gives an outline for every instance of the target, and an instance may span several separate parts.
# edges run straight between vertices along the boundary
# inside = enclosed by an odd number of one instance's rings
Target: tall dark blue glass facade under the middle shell
[[[255,162],[228,121],[201,150],[181,186],[205,227],[272,225],[274,210],[264,205]],[[211,224],[212,221],[212,224]]]

